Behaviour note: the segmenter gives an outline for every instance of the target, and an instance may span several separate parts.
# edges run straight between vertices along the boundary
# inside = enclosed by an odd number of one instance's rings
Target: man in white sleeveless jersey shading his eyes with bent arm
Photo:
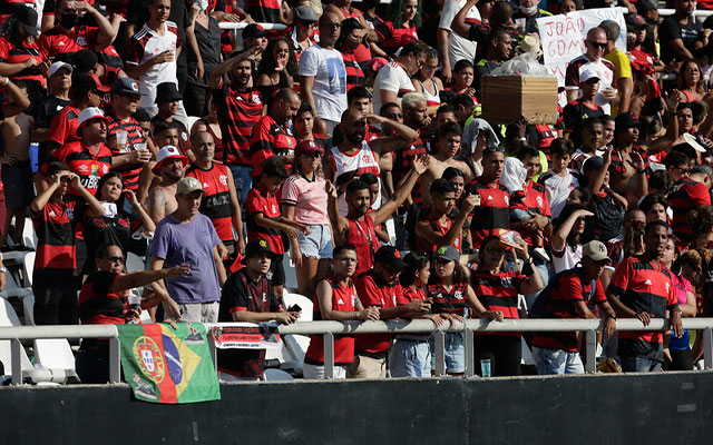
[[[395,131],[394,136],[373,139],[367,144],[367,120],[382,128]],[[401,150],[418,139],[419,135],[403,123],[377,115],[362,115],[353,108],[342,113],[342,121],[334,131],[333,147],[323,158],[324,178],[336,187],[338,195],[344,194],[350,181],[363,174],[379,176],[379,158],[390,151]],[[374,204],[378,208],[379,201]],[[346,215],[346,201],[340,196],[340,215]]]

